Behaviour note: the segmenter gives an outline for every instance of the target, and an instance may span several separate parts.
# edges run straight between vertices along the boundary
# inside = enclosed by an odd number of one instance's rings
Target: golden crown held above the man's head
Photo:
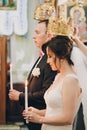
[[[55,0],[44,0],[44,4],[39,4],[34,11],[34,19],[36,20],[47,20],[55,13]]]

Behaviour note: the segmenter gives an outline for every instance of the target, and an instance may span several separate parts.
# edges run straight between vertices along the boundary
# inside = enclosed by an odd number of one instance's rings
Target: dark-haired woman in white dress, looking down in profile
[[[46,110],[29,107],[23,111],[26,120],[41,123],[41,130],[72,130],[81,103],[82,89],[71,60],[73,44],[67,36],[48,41],[47,62],[58,70],[53,84],[45,92]]]

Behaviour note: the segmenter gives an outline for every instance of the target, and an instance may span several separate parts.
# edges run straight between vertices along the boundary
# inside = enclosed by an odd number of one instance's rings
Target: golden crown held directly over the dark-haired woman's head
[[[72,18],[68,21],[63,20],[57,16],[51,16],[48,23],[48,32],[53,35],[69,36],[73,33],[74,22]]]

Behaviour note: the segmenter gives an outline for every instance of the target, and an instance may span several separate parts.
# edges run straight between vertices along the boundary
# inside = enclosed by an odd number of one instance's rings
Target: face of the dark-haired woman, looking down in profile
[[[47,47],[46,49],[47,52],[47,63],[51,66],[52,70],[56,71],[57,67],[56,67],[56,56],[55,54]]]

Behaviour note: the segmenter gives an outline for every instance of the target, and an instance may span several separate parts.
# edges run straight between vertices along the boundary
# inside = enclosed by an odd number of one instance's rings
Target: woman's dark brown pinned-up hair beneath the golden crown
[[[71,60],[73,43],[68,36],[58,35],[48,41],[47,45],[59,59],[66,59],[69,64],[73,65]]]

